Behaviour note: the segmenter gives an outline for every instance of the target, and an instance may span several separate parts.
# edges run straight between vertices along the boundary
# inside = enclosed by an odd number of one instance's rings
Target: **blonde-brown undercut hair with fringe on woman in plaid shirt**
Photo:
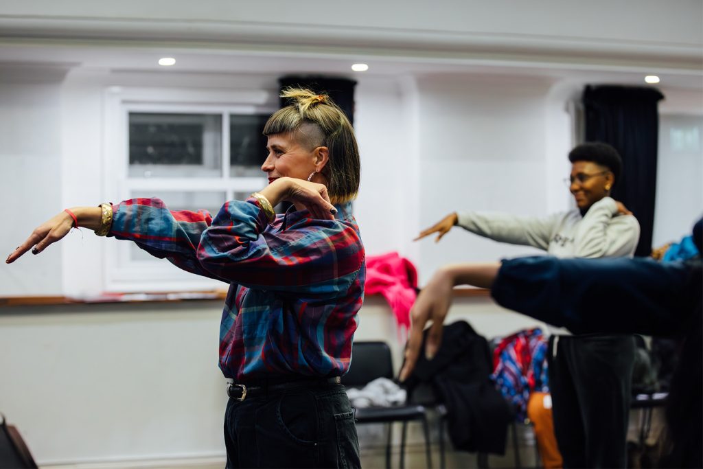
[[[326,94],[287,88],[280,94],[289,105],[269,117],[264,135],[291,134],[313,150],[326,146],[329,161],[322,169],[333,204],[354,200],[359,192],[361,160],[354,128],[344,112]]]

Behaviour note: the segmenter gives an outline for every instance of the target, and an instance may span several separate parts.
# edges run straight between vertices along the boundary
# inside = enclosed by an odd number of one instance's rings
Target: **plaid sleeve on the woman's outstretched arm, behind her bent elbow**
[[[198,261],[200,236],[212,223],[207,210],[171,211],[157,198],[136,198],[112,205],[112,228],[108,236],[131,240],[150,255],[185,271],[217,280]]]

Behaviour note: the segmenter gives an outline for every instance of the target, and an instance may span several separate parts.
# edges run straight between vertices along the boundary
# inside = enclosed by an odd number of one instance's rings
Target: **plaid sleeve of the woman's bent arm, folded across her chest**
[[[299,219],[269,229],[256,200],[226,203],[202,233],[198,261],[217,278],[250,288],[336,296],[352,284],[364,261],[353,224]]]

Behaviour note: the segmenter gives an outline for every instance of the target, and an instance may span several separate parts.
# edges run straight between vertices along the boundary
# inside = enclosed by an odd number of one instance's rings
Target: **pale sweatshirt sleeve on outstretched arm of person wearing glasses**
[[[548,217],[517,217],[498,212],[462,212],[458,225],[479,236],[501,243],[519,244],[547,250],[559,214]]]

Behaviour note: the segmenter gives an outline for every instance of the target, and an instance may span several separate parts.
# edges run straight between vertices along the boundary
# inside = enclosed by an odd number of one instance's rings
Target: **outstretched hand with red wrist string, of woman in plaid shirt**
[[[78,220],[78,225],[91,230],[96,230],[100,227],[102,210],[100,207],[75,207],[71,211]],[[15,262],[15,260],[23,255],[28,250],[32,250],[32,254],[39,254],[50,244],[56,243],[71,231],[74,221],[73,218],[65,211],[56,215],[49,221],[45,221],[32,231],[27,240],[18,246],[11,255],[6,259],[7,264]]]

